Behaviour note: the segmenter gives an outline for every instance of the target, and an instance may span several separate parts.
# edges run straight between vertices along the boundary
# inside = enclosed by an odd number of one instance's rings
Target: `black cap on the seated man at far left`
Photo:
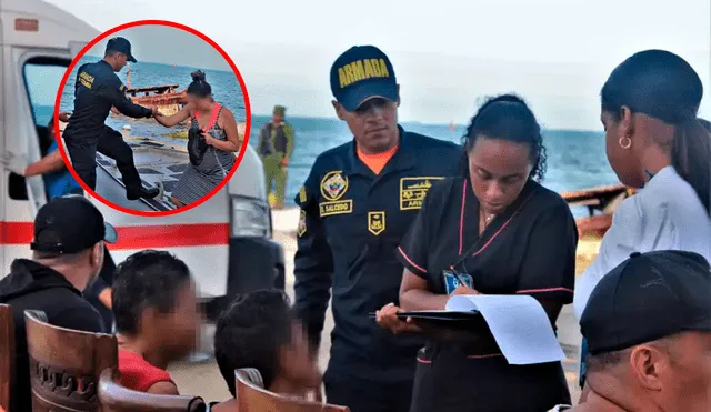
[[[100,241],[116,242],[116,229],[81,195],[54,198],[37,212],[32,250],[77,253]]]

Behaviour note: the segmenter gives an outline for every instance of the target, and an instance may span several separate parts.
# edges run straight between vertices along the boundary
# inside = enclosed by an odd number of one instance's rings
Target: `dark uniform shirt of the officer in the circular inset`
[[[130,118],[150,118],[152,111],[133,104],[126,96],[126,86],[111,66],[100,60],[82,64],[74,83],[74,111],[64,130],[66,139],[93,141],[101,135],[111,107]]]

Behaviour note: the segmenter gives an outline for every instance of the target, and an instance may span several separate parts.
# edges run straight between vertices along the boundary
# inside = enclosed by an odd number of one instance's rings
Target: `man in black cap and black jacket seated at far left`
[[[82,297],[97,279],[104,242],[117,232],[81,195],[54,198],[34,219],[32,259],[17,259],[0,280],[0,303],[12,307],[17,361],[11,411],[31,411],[24,311],[44,312],[56,326],[104,332],[99,312]]]

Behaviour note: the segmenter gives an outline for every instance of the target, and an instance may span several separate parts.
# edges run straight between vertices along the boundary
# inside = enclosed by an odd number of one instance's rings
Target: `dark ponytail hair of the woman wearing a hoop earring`
[[[674,127],[671,162],[711,215],[711,133],[697,118],[703,84],[681,57],[665,50],[638,52],[602,87],[602,110],[620,121],[622,108]]]

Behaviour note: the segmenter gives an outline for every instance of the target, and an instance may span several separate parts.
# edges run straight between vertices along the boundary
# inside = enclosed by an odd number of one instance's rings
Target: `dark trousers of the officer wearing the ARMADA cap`
[[[324,382],[328,403],[351,412],[409,412],[412,381],[382,384],[339,376]],[[434,411],[433,411],[434,412]]]

